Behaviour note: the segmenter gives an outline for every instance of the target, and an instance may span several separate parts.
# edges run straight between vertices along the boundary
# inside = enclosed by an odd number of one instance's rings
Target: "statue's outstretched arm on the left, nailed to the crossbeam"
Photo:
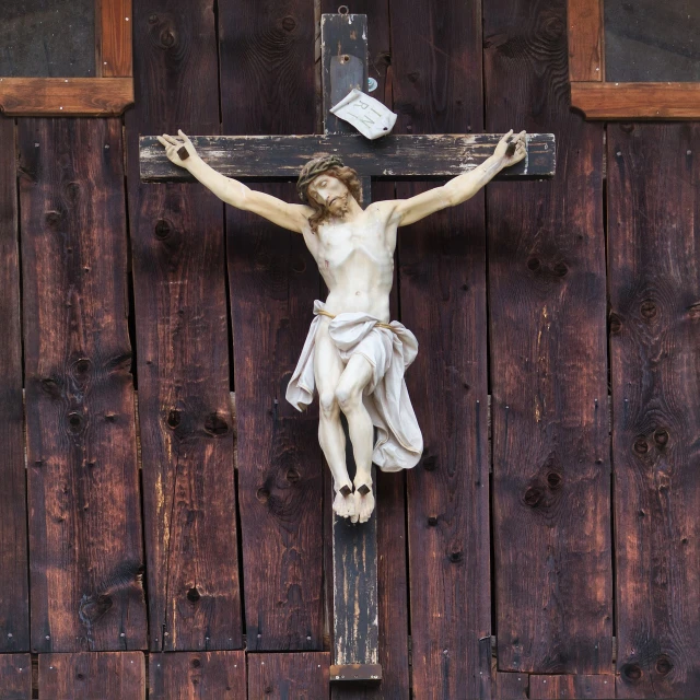
[[[199,158],[192,142],[182,130],[178,130],[177,133],[179,139],[167,133],[158,137],[158,140],[165,147],[165,154],[172,163],[189,171],[205,187],[228,205],[236,209],[252,211],[295,233],[303,232],[313,211],[311,207],[290,205],[271,195],[255,191],[237,179],[225,177]],[[188,153],[186,159],[178,155],[178,151],[183,148]]]

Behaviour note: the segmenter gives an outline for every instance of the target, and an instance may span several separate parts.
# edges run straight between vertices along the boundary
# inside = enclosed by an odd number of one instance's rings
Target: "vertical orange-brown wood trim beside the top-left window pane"
[[[97,0],[101,16],[98,70],[105,78],[132,74],[131,0]]]

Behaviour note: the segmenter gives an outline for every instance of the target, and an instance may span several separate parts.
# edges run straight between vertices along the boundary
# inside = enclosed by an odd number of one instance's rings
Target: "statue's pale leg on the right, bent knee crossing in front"
[[[340,377],[336,398],[348,419],[352,453],[357,465],[354,477],[358,520],[365,523],[374,510],[372,493],[372,451],[374,425],[362,401],[362,392],[370,383],[374,370],[366,358],[352,355]]]

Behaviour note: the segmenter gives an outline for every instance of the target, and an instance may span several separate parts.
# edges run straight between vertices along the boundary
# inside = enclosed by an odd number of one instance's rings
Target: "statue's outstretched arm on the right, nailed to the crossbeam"
[[[472,171],[453,177],[442,187],[434,187],[410,199],[397,200],[393,220],[399,226],[407,226],[441,209],[455,207],[474,197],[504,167],[510,167],[525,158],[525,131],[521,131],[511,140],[512,135],[513,129],[499,141],[493,155]],[[509,152],[509,147],[512,153]]]

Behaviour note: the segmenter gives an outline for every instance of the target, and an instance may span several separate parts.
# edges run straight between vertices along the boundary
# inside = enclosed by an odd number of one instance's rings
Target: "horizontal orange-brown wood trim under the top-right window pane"
[[[700,83],[572,82],[571,106],[587,119],[698,119]]]

